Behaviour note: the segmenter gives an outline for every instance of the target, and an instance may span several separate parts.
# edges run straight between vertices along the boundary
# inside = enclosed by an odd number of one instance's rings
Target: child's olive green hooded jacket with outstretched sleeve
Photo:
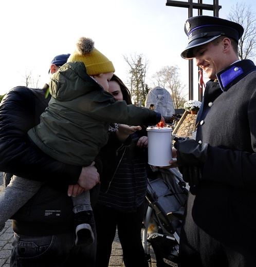
[[[108,139],[111,122],[155,125],[159,112],[116,101],[89,75],[83,62],[69,62],[52,75],[52,96],[38,126],[28,131],[49,156],[72,165],[90,165]]]

